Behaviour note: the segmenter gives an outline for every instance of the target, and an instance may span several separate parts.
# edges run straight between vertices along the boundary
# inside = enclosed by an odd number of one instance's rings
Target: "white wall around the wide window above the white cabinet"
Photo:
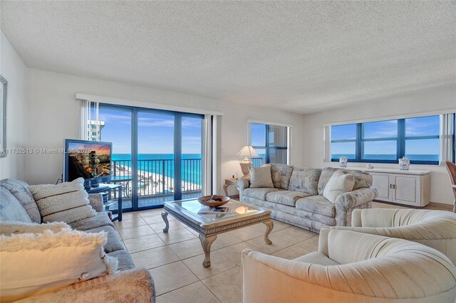
[[[325,162],[323,144],[323,124],[356,119],[369,119],[406,115],[417,112],[455,109],[456,87],[442,87],[428,92],[416,92],[388,100],[375,100],[360,105],[328,110],[316,114],[304,115],[304,139],[311,148],[304,149],[304,164],[310,167],[338,166],[337,163]],[[365,167],[366,164],[348,164],[353,167]],[[375,167],[398,168],[398,164],[373,164]],[[410,169],[431,171],[430,201],[452,204],[453,195],[445,166],[410,165]]]

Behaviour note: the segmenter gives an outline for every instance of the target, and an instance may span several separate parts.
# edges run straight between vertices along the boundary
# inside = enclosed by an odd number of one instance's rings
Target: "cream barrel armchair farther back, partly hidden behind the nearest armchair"
[[[456,213],[421,209],[356,209],[351,214],[351,227],[325,227],[320,235],[325,238],[332,229],[418,242],[443,252],[456,265]],[[320,241],[318,250],[327,252],[325,243],[325,240]]]

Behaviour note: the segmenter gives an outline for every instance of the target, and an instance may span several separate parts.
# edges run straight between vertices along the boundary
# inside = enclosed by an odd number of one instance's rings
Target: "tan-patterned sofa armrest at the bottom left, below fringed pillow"
[[[154,281],[145,268],[68,285],[19,302],[155,302]]]

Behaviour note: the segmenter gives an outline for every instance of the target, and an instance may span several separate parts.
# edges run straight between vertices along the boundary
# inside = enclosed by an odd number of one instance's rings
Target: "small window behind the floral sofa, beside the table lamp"
[[[250,124],[251,145],[259,158],[253,166],[266,163],[286,164],[288,161],[288,127],[270,124]]]

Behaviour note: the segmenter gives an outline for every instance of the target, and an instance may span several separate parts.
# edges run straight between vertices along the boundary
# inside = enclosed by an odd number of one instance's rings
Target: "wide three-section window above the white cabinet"
[[[353,162],[398,163],[403,156],[412,164],[440,161],[439,115],[334,125],[330,131],[331,161],[341,156]]]

